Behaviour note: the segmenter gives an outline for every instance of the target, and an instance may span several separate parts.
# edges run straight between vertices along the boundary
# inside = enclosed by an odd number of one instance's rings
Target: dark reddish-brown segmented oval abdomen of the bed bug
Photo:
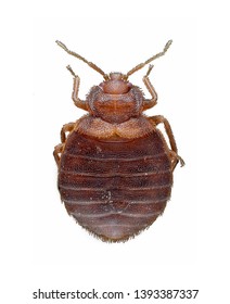
[[[67,212],[104,240],[137,235],[163,213],[170,197],[173,175],[166,151],[156,131],[129,141],[72,132],[59,173]]]

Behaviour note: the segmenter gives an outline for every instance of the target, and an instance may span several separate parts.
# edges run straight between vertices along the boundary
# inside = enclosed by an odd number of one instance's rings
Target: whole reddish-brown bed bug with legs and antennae
[[[149,79],[153,65],[143,77],[150,99],[128,81],[135,72],[164,55],[171,40],[127,74],[105,74],[61,41],[56,43],[104,78],[81,100],[80,79],[67,66],[74,76],[73,101],[88,114],[64,125],[61,143],[54,148],[61,200],[67,213],[94,236],[103,241],[126,241],[163,214],[171,193],[173,172],[178,162],[184,164],[168,121],[162,115],[143,115],[157,102]],[[169,144],[158,124],[164,124]]]

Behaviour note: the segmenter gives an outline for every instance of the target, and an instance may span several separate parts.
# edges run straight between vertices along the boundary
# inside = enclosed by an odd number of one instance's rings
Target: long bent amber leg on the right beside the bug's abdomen
[[[165,131],[166,131],[169,142],[170,142],[170,148],[171,148],[170,155],[171,155],[171,161],[173,161],[173,167],[175,168],[178,162],[180,162],[181,167],[184,166],[184,161],[177,153],[178,152],[177,143],[176,143],[176,140],[175,140],[175,137],[174,137],[174,134],[173,134],[173,130],[171,130],[171,127],[170,127],[168,121],[162,115],[152,116],[152,117],[150,117],[150,119],[152,119],[156,126],[161,123],[164,124]]]

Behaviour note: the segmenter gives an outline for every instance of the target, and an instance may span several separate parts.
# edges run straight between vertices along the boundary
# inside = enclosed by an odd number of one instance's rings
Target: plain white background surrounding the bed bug
[[[5,18],[2,303],[38,303],[31,300],[38,288],[200,289],[191,303],[229,303],[228,15],[223,1],[171,2],[33,2],[30,17],[14,5]],[[53,147],[62,125],[84,114],[71,99],[73,77],[65,66],[80,76],[80,98],[102,77],[56,39],[105,72],[124,73],[174,40],[154,62],[150,78],[158,104],[146,114],[168,118],[187,165],[175,172],[164,215],[126,243],[89,236],[60,202]],[[130,81],[143,87],[146,68]]]

